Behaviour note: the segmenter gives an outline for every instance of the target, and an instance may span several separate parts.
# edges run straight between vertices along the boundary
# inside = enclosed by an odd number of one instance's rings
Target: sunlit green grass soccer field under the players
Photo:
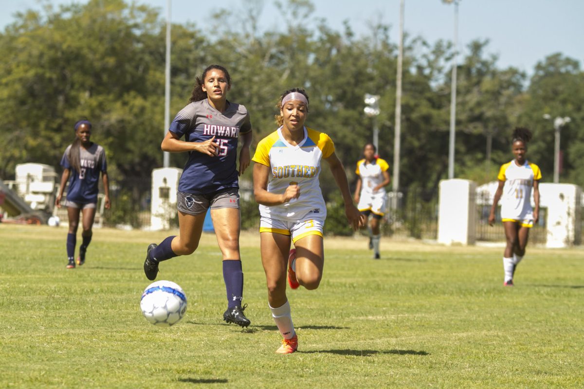
[[[65,269],[63,227],[0,225],[2,388],[584,387],[584,250],[528,246],[516,286],[502,248],[326,239],[318,290],[288,290],[300,346],[276,355],[258,234],[242,235],[247,330],[224,324],[214,236],[161,265],[189,307],[171,328],[142,317],[148,243],[96,229]],[[78,237],[78,241],[80,237]]]

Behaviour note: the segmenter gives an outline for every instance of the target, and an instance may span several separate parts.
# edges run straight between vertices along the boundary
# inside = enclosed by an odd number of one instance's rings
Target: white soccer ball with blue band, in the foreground
[[[185,316],[185,292],[171,281],[153,282],[144,289],[140,308],[150,323],[170,327]]]

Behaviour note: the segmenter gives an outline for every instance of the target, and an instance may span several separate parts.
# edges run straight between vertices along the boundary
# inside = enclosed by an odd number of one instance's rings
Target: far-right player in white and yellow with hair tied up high
[[[495,209],[502,197],[501,220],[505,227],[507,246],[503,254],[503,269],[505,281],[503,285],[513,286],[513,275],[519,262],[525,255],[525,247],[529,238],[529,229],[537,223],[540,212],[541,180],[540,168],[525,158],[527,143],[531,139],[531,131],[517,127],[513,131],[512,151],[515,159],[502,164],[499,170],[499,187],[495,192],[489,225],[495,223]],[[535,209],[531,208],[531,188]]]

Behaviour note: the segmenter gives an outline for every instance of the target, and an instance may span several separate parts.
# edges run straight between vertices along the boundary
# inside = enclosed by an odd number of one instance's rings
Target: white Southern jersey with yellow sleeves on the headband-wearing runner
[[[304,139],[297,146],[286,142],[281,127],[258,143],[253,162],[270,167],[267,191],[284,193],[288,185],[297,184],[300,197],[282,205],[259,206],[260,215],[280,220],[300,220],[308,213],[326,218],[318,177],[321,160],[335,152],[331,138],[323,132],[304,127]]]

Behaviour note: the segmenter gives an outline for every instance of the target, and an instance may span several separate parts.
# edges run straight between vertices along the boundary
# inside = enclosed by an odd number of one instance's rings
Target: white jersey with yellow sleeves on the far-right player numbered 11
[[[501,197],[501,219],[533,219],[531,188],[534,180],[541,180],[541,170],[527,160],[517,166],[515,160],[501,165],[499,181],[505,181]]]

